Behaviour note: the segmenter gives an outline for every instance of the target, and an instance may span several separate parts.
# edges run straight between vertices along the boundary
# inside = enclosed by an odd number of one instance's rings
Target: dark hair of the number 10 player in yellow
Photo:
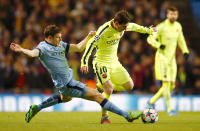
[[[131,20],[129,13],[126,10],[121,10],[115,14],[114,21],[121,24],[127,24]]]

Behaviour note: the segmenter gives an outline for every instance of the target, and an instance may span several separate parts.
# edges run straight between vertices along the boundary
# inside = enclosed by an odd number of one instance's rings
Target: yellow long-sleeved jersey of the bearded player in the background
[[[160,58],[170,62],[175,57],[177,43],[183,53],[189,53],[181,24],[169,22],[168,19],[157,25],[157,32],[149,35],[147,41],[150,45],[157,48],[156,55],[160,54]],[[165,45],[165,49],[160,49],[160,45]]]

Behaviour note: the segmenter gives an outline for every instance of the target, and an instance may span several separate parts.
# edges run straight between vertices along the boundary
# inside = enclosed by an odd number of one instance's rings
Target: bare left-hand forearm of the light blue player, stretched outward
[[[33,49],[33,50],[24,49],[16,43],[11,43],[10,49],[13,50],[14,52],[23,53],[29,57],[38,57],[40,54],[40,51],[38,49]]]

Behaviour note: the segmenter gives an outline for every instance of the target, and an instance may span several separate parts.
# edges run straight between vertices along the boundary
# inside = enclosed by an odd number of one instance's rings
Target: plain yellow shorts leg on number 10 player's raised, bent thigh
[[[124,84],[132,81],[127,70],[120,64],[116,64],[114,68],[112,68],[110,72],[111,82],[116,85],[123,86]]]

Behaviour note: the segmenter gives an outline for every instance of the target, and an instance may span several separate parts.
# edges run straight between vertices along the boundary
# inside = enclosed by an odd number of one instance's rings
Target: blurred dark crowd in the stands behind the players
[[[47,70],[36,58],[9,50],[16,42],[33,49],[44,39],[43,29],[49,24],[61,27],[63,41],[80,42],[89,31],[113,18],[120,9],[133,15],[133,22],[151,26],[165,19],[169,4],[177,6],[190,50],[185,61],[177,49],[177,82],[174,94],[200,94],[200,1],[199,0],[0,0],[0,93],[52,94],[54,86]],[[120,41],[118,56],[130,73],[135,88],[129,94],[153,94],[158,89],[154,79],[155,49],[146,42],[147,35],[126,32]],[[90,60],[90,73],[80,73],[81,53],[68,54],[76,80],[95,86]],[[92,59],[92,58],[91,58]],[[115,92],[119,93],[119,92]]]

